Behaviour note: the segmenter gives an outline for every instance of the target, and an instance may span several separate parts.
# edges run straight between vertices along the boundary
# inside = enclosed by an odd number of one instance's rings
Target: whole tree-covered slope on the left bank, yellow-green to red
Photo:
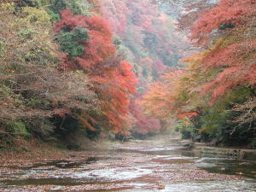
[[[1,3],[0,137],[129,135],[136,92],[96,1]]]

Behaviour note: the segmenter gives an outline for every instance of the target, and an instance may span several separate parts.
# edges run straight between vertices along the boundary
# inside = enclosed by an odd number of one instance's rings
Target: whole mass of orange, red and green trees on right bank
[[[190,39],[201,52],[183,59],[188,67],[181,75],[173,76],[177,71],[162,76],[141,103],[160,119],[179,119],[178,125],[194,139],[248,142],[255,137],[256,2],[220,0],[199,6],[191,6],[191,11],[201,10],[195,24],[183,29],[190,30]]]

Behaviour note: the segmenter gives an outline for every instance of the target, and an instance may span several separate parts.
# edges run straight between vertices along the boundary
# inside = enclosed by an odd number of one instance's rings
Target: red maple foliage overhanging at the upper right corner
[[[211,81],[202,84],[201,95],[212,93],[211,104],[238,86],[256,84],[255,0],[221,0],[217,6],[201,15],[192,29],[192,39],[198,44],[216,41],[202,56],[199,67],[206,72],[218,70]],[[216,40],[212,32],[223,35]]]

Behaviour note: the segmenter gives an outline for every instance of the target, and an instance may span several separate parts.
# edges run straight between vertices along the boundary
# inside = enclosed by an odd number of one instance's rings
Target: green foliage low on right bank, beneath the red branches
[[[202,108],[202,113],[198,117],[191,118],[189,125],[182,124],[183,126],[179,130],[182,132],[183,137],[190,134],[193,139],[200,138],[204,142],[210,142],[216,138],[218,143],[227,145],[247,143],[250,138],[254,137],[254,134],[247,134],[249,127],[247,124],[237,125],[232,121],[239,113],[233,112],[230,109],[233,107],[232,103],[247,101],[247,97],[250,94],[248,88],[241,87],[232,90],[230,95],[224,96],[222,100],[212,106],[207,105],[207,103],[203,105],[198,103],[198,107]],[[177,126],[179,127],[180,125],[178,124]]]

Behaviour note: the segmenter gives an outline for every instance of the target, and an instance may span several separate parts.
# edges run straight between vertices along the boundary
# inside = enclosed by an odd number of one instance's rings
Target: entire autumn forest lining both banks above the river
[[[255,148],[255,10],[254,0],[2,0],[1,146],[175,130]]]

